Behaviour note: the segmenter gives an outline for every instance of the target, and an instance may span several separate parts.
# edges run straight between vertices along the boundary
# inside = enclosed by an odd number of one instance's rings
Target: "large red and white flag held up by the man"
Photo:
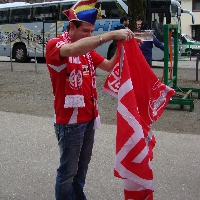
[[[119,57],[103,91],[118,98],[114,175],[124,179],[125,200],[153,199],[151,160],[155,137],[150,125],[174,90],[159,81],[135,39],[118,45]]]

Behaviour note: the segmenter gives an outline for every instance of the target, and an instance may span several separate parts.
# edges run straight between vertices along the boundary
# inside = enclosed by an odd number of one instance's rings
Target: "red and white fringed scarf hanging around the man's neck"
[[[63,39],[65,43],[71,43],[71,38],[68,32],[63,33]],[[83,55],[86,57],[89,72],[91,75],[91,91],[92,100],[94,104],[94,117],[98,117],[98,105],[97,105],[97,91],[96,91],[96,77],[95,69],[93,66],[90,53]],[[65,108],[85,107],[84,95],[83,95],[83,69],[79,56],[69,57],[67,65],[67,76],[65,85]],[[99,119],[100,120],[100,119]],[[99,122],[100,123],[100,122]]]

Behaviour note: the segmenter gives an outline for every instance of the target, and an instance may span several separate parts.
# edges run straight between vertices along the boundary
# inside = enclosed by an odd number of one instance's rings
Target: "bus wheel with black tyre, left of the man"
[[[14,48],[14,58],[16,62],[20,63],[28,61],[27,49],[25,45],[18,45]]]

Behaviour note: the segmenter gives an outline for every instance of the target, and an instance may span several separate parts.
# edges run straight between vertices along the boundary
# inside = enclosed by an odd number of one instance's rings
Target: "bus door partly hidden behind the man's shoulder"
[[[43,57],[46,53],[46,43],[51,39],[57,37],[58,27],[57,21],[43,22],[42,44],[43,44]]]

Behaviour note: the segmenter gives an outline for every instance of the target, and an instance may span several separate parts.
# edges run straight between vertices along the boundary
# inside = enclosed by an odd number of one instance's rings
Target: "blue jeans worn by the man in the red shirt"
[[[56,200],[86,200],[83,192],[94,143],[94,120],[80,124],[54,124],[60,147]]]

